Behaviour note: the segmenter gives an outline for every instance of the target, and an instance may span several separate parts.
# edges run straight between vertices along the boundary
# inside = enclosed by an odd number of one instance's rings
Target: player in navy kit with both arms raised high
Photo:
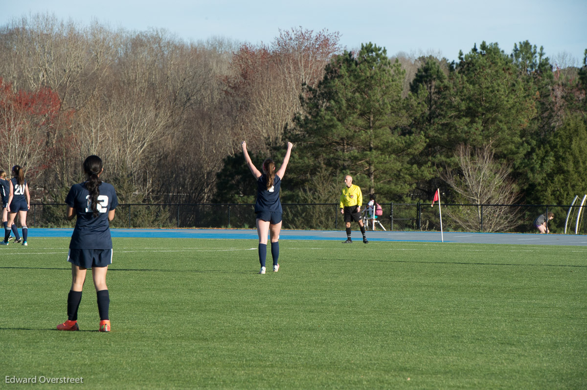
[[[263,174],[253,165],[247,152],[247,142],[242,141],[242,153],[251,173],[257,180],[257,202],[255,202],[255,214],[257,214],[257,234],[259,235],[259,262],[261,271],[265,273],[265,260],[267,257],[267,234],[271,235],[271,256],[273,257],[273,272],[279,271],[279,232],[281,232],[281,216],[283,210],[279,201],[281,179],[284,178],[285,169],[288,166],[294,144],[288,142],[288,150],[285,152],[284,162],[275,172],[275,162],[266,159],[263,162]]]

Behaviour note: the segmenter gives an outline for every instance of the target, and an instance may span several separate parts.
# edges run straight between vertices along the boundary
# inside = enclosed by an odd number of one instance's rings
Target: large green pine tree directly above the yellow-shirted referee
[[[302,96],[304,114],[296,131],[305,162],[327,160],[332,172],[355,176],[354,183],[368,186],[370,193],[377,190],[390,199],[406,195],[424,175],[410,160],[424,137],[406,131],[403,77],[399,62],[392,63],[373,43],[334,57],[321,83]]]

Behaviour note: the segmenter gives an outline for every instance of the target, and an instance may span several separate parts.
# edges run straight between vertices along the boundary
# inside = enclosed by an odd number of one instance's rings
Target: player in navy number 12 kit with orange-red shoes
[[[108,309],[110,297],[106,286],[106,272],[112,264],[112,236],[109,221],[114,219],[118,198],[112,184],[100,181],[104,170],[102,159],[89,156],[83,162],[86,182],[73,184],[65,203],[68,205],[67,217],[72,220],[77,215],[72,239],[69,243],[68,261],[72,264],[72,287],[68,294],[68,320],[57,326],[58,330],[79,330],[77,309],[82,300],[83,283],[86,271],[92,268],[92,278],[96,288],[99,331],[110,331]]]

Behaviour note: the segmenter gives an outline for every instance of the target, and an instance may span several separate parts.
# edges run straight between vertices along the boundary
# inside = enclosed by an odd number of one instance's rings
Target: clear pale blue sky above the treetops
[[[366,5],[361,5],[366,4]],[[279,29],[340,32],[347,49],[373,42],[387,54],[440,53],[456,60],[475,43],[544,46],[582,64],[587,49],[587,0],[0,0],[0,24],[29,12],[50,12],[87,24],[93,18],[112,28],[164,28],[186,41],[227,37],[271,43]]]

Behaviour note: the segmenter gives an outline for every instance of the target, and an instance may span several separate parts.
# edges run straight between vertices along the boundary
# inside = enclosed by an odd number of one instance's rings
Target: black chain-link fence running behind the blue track
[[[283,227],[300,230],[343,230],[338,203],[282,204]],[[392,231],[440,231],[438,205],[382,203],[378,221]],[[538,232],[538,215],[554,213],[551,233],[587,234],[581,206],[521,204],[442,204],[444,231]],[[65,220],[65,204],[31,204],[29,227],[73,227]],[[115,228],[254,228],[252,204],[119,204]],[[376,228],[378,226],[376,225]]]

